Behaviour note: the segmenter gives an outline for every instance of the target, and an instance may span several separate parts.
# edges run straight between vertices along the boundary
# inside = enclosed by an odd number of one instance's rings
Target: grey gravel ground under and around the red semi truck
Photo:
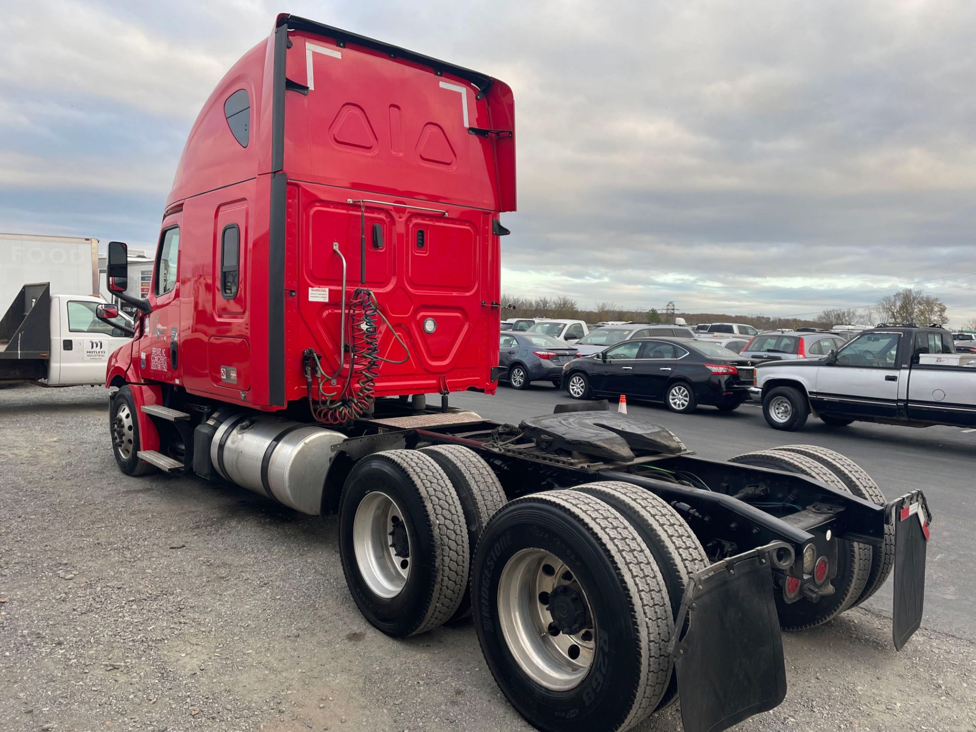
[[[123,475],[106,401],[0,389],[0,729],[528,729],[469,622],[392,640],[362,619],[334,517]],[[737,729],[976,730],[974,644],[890,638],[864,609],[786,635],[786,702]]]

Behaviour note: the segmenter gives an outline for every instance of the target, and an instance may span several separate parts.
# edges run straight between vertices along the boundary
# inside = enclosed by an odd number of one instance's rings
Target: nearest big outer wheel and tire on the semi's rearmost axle
[[[668,590],[636,531],[592,496],[549,491],[499,510],[472,594],[488,667],[535,727],[626,730],[664,694]]]

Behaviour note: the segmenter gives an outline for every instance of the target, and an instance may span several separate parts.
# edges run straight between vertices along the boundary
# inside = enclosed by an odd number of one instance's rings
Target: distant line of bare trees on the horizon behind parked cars
[[[633,309],[612,302],[595,303],[583,309],[575,300],[566,296],[558,298],[533,298],[506,293],[502,295],[502,317],[509,318],[568,318],[598,323],[607,320],[624,320],[635,323],[661,323],[662,315],[656,307]],[[894,295],[886,295],[869,307],[835,307],[825,309],[812,318],[772,317],[768,315],[730,315],[724,312],[677,312],[689,325],[698,323],[748,323],[760,330],[773,328],[831,328],[834,325],[876,325],[885,323],[917,323],[946,325],[946,305],[935,295],[926,295],[921,289],[906,288]],[[976,330],[976,318],[963,325]]]

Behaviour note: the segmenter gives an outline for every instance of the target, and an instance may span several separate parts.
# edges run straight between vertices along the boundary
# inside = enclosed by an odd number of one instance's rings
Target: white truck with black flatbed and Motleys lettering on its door
[[[129,341],[132,320],[102,298],[49,290],[24,285],[0,320],[0,385],[104,385],[108,356]]]

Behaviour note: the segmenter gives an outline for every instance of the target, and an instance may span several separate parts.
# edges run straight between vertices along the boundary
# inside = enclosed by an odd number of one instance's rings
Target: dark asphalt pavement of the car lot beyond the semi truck
[[[438,404],[437,396],[428,403]],[[549,414],[569,395],[545,383],[521,391],[499,386],[494,395],[453,394],[451,405],[482,417],[517,425],[526,417]],[[612,405],[617,409],[617,405]],[[676,433],[699,455],[727,460],[735,455],[777,445],[809,444],[835,450],[865,468],[888,499],[921,488],[934,516],[927,549],[925,627],[976,640],[976,430],[957,427],[894,427],[856,422],[828,427],[810,419],[796,432],[766,425],[756,402],[735,412],[699,407],[690,415],[664,406],[628,401],[629,414],[639,414]],[[867,605],[891,614],[891,580]]]

